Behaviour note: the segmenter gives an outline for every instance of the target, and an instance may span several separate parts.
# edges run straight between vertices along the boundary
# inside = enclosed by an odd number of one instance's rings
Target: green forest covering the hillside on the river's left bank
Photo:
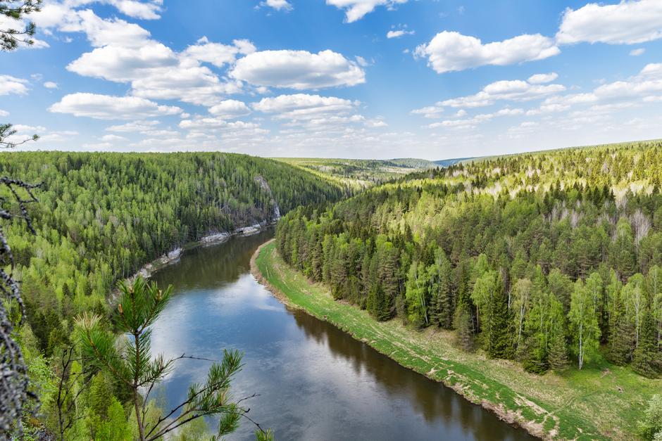
[[[126,388],[72,352],[76,318],[117,313],[110,295],[117,281],[206,234],[271,222],[279,212],[342,195],[295,167],[226,153],[4,153],[0,172],[41,184],[38,202],[27,206],[35,234],[2,195],[18,215],[5,229],[25,303],[14,335],[40,404],[37,414],[25,413],[25,436],[68,440],[120,440],[127,432],[110,429],[130,428]],[[19,324],[20,310],[9,308]],[[82,392],[65,402],[58,400],[62,388]]]

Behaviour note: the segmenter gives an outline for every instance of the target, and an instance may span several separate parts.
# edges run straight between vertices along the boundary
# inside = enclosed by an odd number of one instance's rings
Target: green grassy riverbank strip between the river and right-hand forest
[[[533,435],[561,439],[635,438],[637,419],[661,380],[648,380],[629,367],[589,363],[582,371],[536,376],[518,364],[468,354],[447,331],[419,332],[400,321],[377,322],[366,311],[335,302],[325,286],[310,283],[263,245],[251,269],[280,300],[329,321],[399,364],[448,385],[468,400],[518,423]]]

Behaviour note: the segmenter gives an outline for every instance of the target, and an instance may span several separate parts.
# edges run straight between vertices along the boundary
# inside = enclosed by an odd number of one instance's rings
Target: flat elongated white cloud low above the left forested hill
[[[99,120],[132,120],[160,115],[177,115],[182,109],[175,106],[159,106],[137,96],[110,96],[98,94],[69,94],[49,108],[54,113],[70,113],[75,116]]]

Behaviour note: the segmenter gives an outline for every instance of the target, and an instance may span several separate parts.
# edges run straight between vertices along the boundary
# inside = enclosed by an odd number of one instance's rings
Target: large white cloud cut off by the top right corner
[[[662,37],[662,1],[622,0],[619,4],[589,3],[563,13],[556,34],[560,44],[637,44]]]

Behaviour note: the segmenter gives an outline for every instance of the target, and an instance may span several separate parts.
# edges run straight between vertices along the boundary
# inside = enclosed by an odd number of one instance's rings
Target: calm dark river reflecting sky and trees
[[[196,248],[154,274],[175,295],[154,325],[152,350],[220,359],[223,348],[244,352],[233,383],[249,416],[273,428],[276,440],[531,440],[453,390],[404,369],[339,331],[291,311],[250,274],[267,231]],[[183,359],[156,392],[170,409],[210,362]],[[210,421],[213,423],[213,421]],[[252,440],[248,421],[231,440]]]

